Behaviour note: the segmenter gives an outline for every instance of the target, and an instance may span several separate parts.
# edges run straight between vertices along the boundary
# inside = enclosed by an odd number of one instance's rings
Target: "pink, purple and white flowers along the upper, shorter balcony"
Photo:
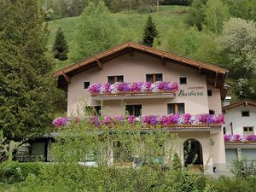
[[[127,92],[159,92],[159,91],[176,91],[176,82],[116,82],[114,84],[98,83],[91,84],[89,91],[92,94],[106,94],[106,93],[127,93]]]

